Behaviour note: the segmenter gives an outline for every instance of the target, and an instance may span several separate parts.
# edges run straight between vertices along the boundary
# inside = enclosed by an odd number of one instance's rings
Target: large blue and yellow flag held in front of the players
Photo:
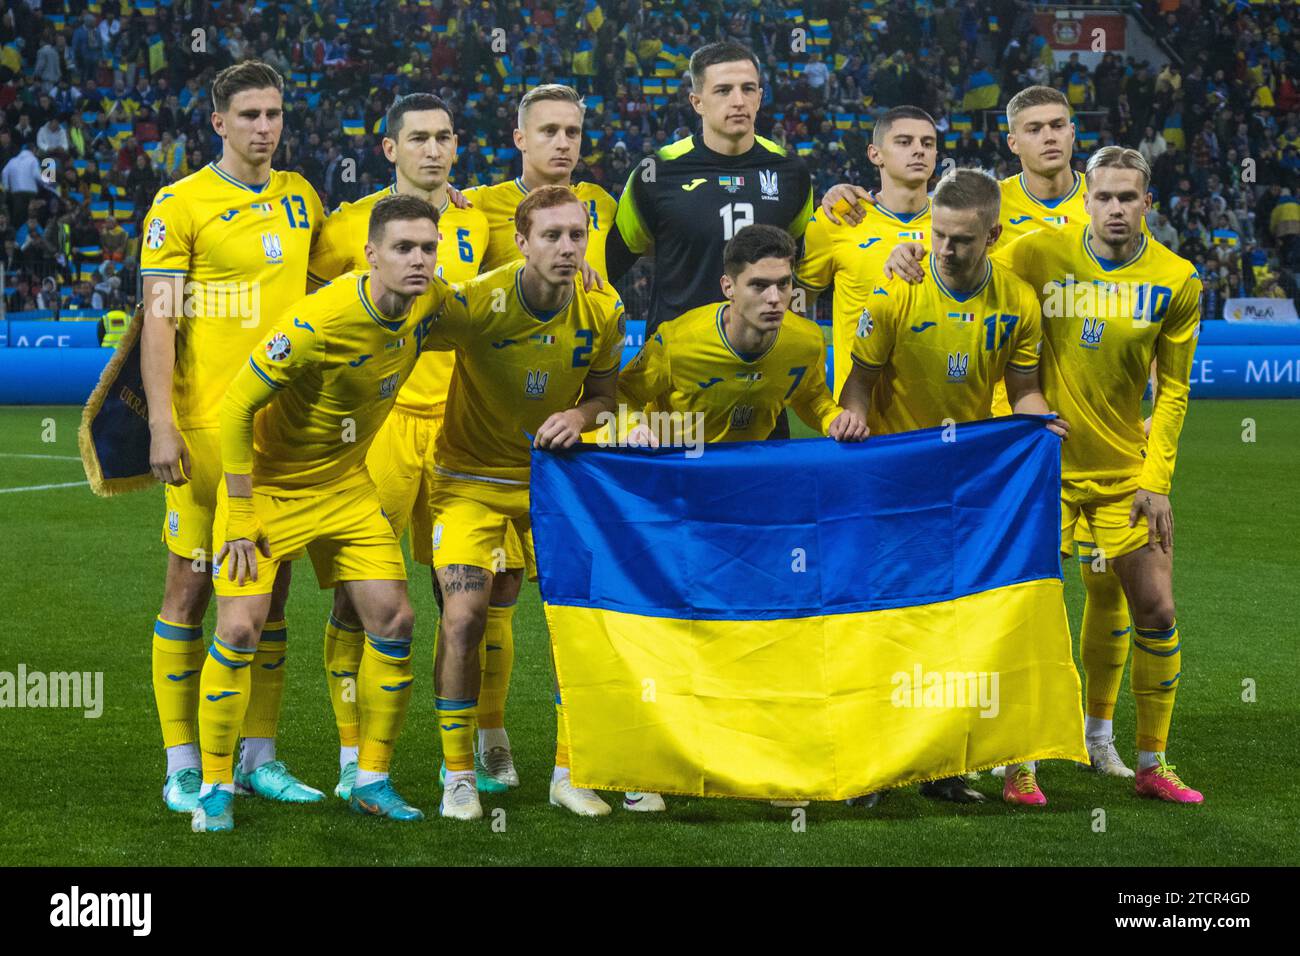
[[[575,786],[841,800],[1086,761],[1060,441],[957,429],[534,451]]]

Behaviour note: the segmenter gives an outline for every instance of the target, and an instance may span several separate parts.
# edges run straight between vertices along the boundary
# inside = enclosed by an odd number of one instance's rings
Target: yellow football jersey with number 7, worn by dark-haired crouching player
[[[702,414],[703,441],[753,441],[772,433],[790,406],[826,434],[842,408],[826,388],[826,345],[815,323],[786,312],[767,351],[741,355],[716,302],[659,326],[619,373],[619,399],[637,411]]]

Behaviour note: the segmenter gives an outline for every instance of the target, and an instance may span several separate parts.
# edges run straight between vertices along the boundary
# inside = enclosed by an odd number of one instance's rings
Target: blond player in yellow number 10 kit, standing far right
[[[1062,542],[1086,518],[1132,610],[1136,791],[1199,804],[1204,797],[1178,778],[1165,748],[1182,672],[1169,492],[1201,281],[1190,261],[1141,230],[1150,207],[1141,153],[1108,146],[1086,174],[1088,221],[1026,235],[1005,255],[1043,298],[1044,390],[1079,425],[1062,453]],[[1152,360],[1158,388],[1148,440],[1141,397]]]

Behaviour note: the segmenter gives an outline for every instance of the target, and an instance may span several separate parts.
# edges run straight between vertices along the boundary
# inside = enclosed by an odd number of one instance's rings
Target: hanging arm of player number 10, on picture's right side
[[[1138,479],[1128,514],[1128,527],[1138,523],[1138,515],[1147,515],[1148,544],[1169,551],[1174,545],[1174,511],[1169,492],[1174,481],[1174,459],[1178,457],[1178,438],[1187,418],[1187,395],[1191,393],[1192,356],[1201,321],[1201,280],[1192,276],[1178,290],[1169,306],[1160,334],[1156,338],[1156,406],[1150,414],[1150,437],[1147,440],[1147,460]]]

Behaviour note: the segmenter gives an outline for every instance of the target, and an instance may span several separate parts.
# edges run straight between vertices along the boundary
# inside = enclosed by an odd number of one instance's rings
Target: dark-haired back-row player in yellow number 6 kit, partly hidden
[[[478,209],[458,208],[447,199],[447,177],[456,159],[456,133],[451,108],[432,94],[411,94],[399,98],[385,122],[384,155],[394,164],[396,181],[378,193],[355,203],[343,203],[325,220],[317,250],[312,254],[311,278],[317,284],[337,276],[367,268],[367,224],[376,203],[389,195],[413,195],[428,200],[438,209],[438,229],[442,234],[438,274],[448,282],[463,282],[478,274],[488,247],[488,220]],[[374,437],[367,457],[380,494],[384,512],[393,523],[393,531],[411,529],[411,555],[433,572],[429,550],[432,525],[429,523],[429,486],[433,481],[433,440],[442,427],[442,412],[451,381],[451,352],[425,352],[415,371],[398,392],[393,412]],[[517,562],[519,566],[523,562]],[[437,585],[437,580],[434,580]],[[489,609],[489,618],[507,619],[506,607]],[[490,637],[489,643],[499,641]],[[351,797],[356,777],[358,732],[360,714],[356,704],[355,682],[361,662],[365,639],[356,611],[346,588],[334,591],[334,607],[325,626],[325,680],[338,723],[339,780],[334,793]],[[500,711],[500,706],[495,711]],[[490,752],[494,767],[503,780],[514,775],[508,747],[502,754]],[[504,761],[500,757],[504,756]],[[480,757],[482,757],[480,749]],[[517,782],[517,777],[514,780]],[[480,786],[506,790],[488,774],[480,775]]]

